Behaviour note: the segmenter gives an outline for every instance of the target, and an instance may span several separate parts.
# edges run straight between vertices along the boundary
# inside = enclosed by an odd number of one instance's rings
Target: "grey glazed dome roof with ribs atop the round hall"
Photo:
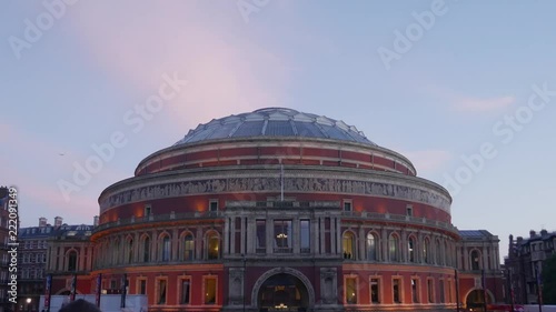
[[[354,125],[324,115],[286,108],[266,108],[199,124],[176,145],[248,137],[302,137],[358,142],[376,147]]]

